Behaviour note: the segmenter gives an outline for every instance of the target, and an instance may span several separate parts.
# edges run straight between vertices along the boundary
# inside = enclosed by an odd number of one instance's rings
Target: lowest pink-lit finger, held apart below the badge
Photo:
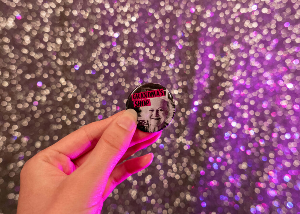
[[[103,200],[105,200],[113,189],[115,189],[118,184],[122,183],[123,180],[149,166],[152,163],[153,157],[153,153],[149,153],[144,156],[129,159],[124,163],[117,165],[107,181],[107,185],[102,195]]]

